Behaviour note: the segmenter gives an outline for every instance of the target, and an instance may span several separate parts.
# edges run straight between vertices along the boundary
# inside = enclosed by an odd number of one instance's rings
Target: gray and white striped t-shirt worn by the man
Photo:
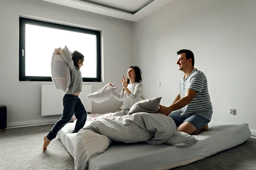
[[[186,95],[188,89],[198,93],[188,105],[180,109],[181,116],[189,117],[192,114],[197,114],[210,120],[212,118],[212,102],[208,92],[206,76],[196,68],[186,79],[184,79],[184,75],[183,73],[180,77],[180,98]]]

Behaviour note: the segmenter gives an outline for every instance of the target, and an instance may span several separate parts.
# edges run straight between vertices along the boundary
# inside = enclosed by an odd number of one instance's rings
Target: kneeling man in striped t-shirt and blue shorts
[[[208,131],[208,123],[212,118],[212,102],[208,93],[207,78],[203,72],[194,68],[194,54],[190,50],[177,52],[180,77],[180,93],[172,105],[160,105],[157,113],[170,116],[177,131],[196,135]]]

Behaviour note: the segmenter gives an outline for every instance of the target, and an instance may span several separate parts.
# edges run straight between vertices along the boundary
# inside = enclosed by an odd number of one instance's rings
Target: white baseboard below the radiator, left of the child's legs
[[[37,126],[37,125],[48,125],[54,124],[58,121],[58,119],[49,119],[49,120],[31,120],[31,121],[23,121],[23,122],[13,122],[7,123],[8,128],[15,128],[15,127],[27,127],[27,126]]]

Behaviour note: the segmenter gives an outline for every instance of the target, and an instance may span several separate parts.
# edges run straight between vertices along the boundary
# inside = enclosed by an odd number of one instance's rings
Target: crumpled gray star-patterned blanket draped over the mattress
[[[186,147],[198,140],[176,132],[174,120],[159,113],[134,113],[96,119],[77,133],[74,161],[76,170],[85,170],[90,159],[108,149],[113,141],[124,143],[169,144]]]

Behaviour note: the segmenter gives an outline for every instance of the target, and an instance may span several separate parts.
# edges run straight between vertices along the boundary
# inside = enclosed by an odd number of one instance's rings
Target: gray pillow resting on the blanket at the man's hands
[[[131,107],[128,114],[140,112],[156,113],[159,109],[161,98],[162,97],[156,97],[137,102]]]

